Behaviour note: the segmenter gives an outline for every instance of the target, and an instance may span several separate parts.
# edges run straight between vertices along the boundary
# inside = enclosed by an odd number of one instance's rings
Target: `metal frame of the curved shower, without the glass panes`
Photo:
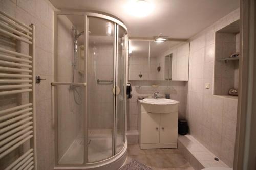
[[[84,86],[84,108],[87,108],[87,77],[85,79],[85,82],[83,83],[67,83],[67,82],[56,82],[57,80],[57,46],[58,46],[58,29],[57,29],[57,23],[58,23],[58,19],[57,16],[58,15],[80,15],[80,16],[84,16],[84,46],[85,46],[85,60],[84,60],[84,66],[85,68],[85,75],[87,75],[87,59],[88,59],[88,38],[89,38],[89,18],[88,17],[96,17],[96,18],[101,18],[101,19],[105,19],[105,20],[109,20],[111,22],[114,23],[114,88],[116,89],[116,70],[118,69],[118,65],[117,65],[117,61],[118,61],[118,28],[121,26],[125,31],[125,59],[124,59],[124,66],[125,66],[125,70],[124,70],[124,83],[125,83],[125,89],[124,89],[124,132],[123,132],[123,139],[124,139],[124,145],[123,148],[115,154],[115,150],[116,150],[116,128],[117,128],[117,119],[116,119],[116,114],[117,114],[117,99],[116,99],[116,95],[114,95],[114,114],[113,114],[113,133],[112,133],[112,156],[109,158],[106,158],[104,160],[100,160],[98,162],[88,162],[88,147],[85,144],[84,145],[84,163],[83,164],[59,164],[58,163],[58,109],[56,107],[57,104],[57,98],[55,98],[55,96],[57,96],[57,90],[54,90],[55,86],[58,85],[78,85],[78,86]],[[120,20],[113,18],[111,16],[108,15],[104,15],[104,14],[99,14],[99,13],[95,13],[95,12],[81,12],[81,11],[69,11],[69,10],[61,10],[61,11],[55,11],[54,12],[54,82],[51,83],[52,85],[52,117],[53,117],[53,127],[55,129],[55,165],[54,165],[54,169],[104,169],[105,166],[108,167],[112,167],[112,168],[119,168],[124,161],[126,160],[126,150],[127,150],[127,140],[126,140],[126,83],[127,83],[127,58],[128,58],[128,35],[127,35],[127,28],[124,25],[124,23],[122,23]],[[87,126],[87,109],[84,109],[84,122],[83,122],[83,132],[84,132],[84,143],[88,143],[88,126]]]

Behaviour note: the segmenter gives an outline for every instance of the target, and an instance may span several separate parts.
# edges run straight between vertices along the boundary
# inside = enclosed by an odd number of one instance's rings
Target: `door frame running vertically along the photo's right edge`
[[[240,0],[239,96],[234,170],[256,169],[256,2]]]

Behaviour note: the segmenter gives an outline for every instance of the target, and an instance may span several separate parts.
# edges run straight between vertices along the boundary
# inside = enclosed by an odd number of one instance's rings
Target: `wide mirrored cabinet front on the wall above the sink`
[[[188,80],[189,42],[129,40],[129,80]]]

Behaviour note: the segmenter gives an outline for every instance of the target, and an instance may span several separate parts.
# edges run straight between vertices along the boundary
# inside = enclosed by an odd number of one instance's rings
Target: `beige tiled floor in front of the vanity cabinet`
[[[128,158],[147,165],[156,170],[194,170],[178,149],[143,149],[138,144],[128,145]]]

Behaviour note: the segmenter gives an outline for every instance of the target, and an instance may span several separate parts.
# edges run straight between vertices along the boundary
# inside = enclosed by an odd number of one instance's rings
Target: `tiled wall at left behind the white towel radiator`
[[[36,142],[37,163],[39,170],[53,169],[54,166],[54,129],[51,114],[51,82],[53,81],[53,10],[44,0],[3,0],[0,10],[18,20],[35,25],[36,75],[46,78],[36,84]],[[22,44],[21,51],[28,54]],[[5,101],[5,102],[4,102]],[[16,105],[15,96],[0,103],[5,107]],[[3,106],[2,105],[2,106]],[[4,107],[1,107],[1,110]]]

